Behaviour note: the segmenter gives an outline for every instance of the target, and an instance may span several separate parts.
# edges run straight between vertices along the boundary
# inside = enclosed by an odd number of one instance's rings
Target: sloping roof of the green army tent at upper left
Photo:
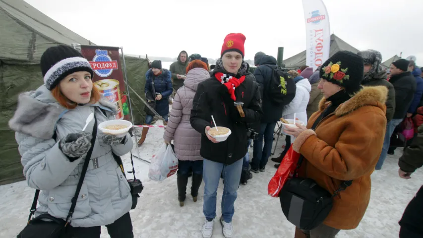
[[[0,0],[0,60],[39,63],[55,45],[90,42],[24,0]]]

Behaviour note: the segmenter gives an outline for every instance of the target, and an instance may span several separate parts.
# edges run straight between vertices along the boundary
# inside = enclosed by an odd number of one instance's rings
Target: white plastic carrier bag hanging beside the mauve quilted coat
[[[148,178],[163,181],[178,171],[178,158],[172,146],[163,144],[159,151],[151,158]]]

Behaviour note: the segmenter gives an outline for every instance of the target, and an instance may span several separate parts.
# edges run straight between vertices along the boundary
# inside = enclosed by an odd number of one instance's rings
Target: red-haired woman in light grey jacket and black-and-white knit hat
[[[92,120],[114,119],[116,106],[103,100],[91,81],[93,70],[68,46],[47,49],[41,57],[44,85],[22,93],[9,126],[16,131],[23,174],[28,186],[40,189],[35,216],[48,213],[65,219],[91,147]],[[56,138],[56,139],[55,139]],[[107,226],[112,238],[133,238],[129,185],[113,157],[132,148],[132,139],[98,131],[68,232],[72,238],[99,238]]]

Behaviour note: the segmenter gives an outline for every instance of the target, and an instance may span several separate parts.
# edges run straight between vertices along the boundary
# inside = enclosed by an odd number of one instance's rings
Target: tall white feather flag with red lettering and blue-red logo
[[[302,0],[306,30],[305,64],[314,70],[329,59],[330,25],[323,0]]]

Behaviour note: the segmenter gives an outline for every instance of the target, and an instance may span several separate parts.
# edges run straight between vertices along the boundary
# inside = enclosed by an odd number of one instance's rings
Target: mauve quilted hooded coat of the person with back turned
[[[201,134],[192,128],[189,117],[197,86],[208,78],[210,74],[203,68],[189,70],[183,81],[184,86],[175,95],[171,117],[163,138],[166,141],[174,139],[175,153],[179,160],[203,159],[200,155]]]

